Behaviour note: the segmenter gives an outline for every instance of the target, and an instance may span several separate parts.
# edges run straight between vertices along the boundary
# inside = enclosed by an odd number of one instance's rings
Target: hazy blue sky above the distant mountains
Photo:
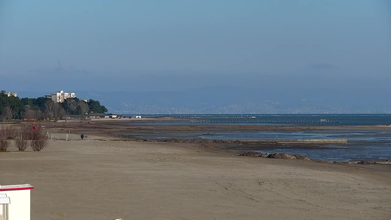
[[[388,0],[0,0],[5,90],[359,89],[390,73]]]

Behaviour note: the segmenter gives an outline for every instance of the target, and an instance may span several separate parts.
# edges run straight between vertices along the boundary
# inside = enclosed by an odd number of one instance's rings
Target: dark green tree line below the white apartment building
[[[63,103],[50,98],[22,98],[0,94],[0,121],[13,119],[62,119],[64,115],[106,113],[107,108],[93,99],[85,102],[78,98],[67,98]]]

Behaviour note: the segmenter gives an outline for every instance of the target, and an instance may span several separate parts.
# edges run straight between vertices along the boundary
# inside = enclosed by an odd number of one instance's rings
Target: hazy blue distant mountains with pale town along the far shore
[[[391,113],[388,88],[204,87],[177,92],[72,91],[117,114],[371,114]],[[44,94],[20,93],[20,97]]]

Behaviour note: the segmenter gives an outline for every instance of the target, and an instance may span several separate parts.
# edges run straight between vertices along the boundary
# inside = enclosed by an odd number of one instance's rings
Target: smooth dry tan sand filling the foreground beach
[[[9,150],[16,150],[13,142]],[[50,141],[0,153],[31,219],[389,219],[387,165],[238,157],[195,144]],[[268,183],[269,177],[270,183]]]

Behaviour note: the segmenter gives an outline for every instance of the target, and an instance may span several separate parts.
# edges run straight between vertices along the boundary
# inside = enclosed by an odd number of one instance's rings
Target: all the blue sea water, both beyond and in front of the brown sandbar
[[[152,115],[145,115],[152,116]],[[153,115],[157,116],[157,115]],[[161,115],[163,116],[163,115]],[[189,115],[165,115],[167,117],[181,117]],[[203,135],[205,132],[154,132],[151,133],[152,139],[166,139],[172,137],[178,138],[203,138],[203,139],[347,139],[348,144],[342,145],[323,145],[316,149],[292,148],[286,145],[286,148],[275,148],[260,151],[262,153],[291,153],[307,155],[311,159],[319,160],[391,160],[391,128],[390,129],[368,129],[355,128],[354,130],[339,130],[339,126],[349,125],[389,125],[391,114],[282,114],[282,115],[194,115],[203,116],[200,120],[223,120],[222,118],[213,118],[215,116],[234,116],[237,120],[319,120],[329,119],[330,121],[339,121],[341,123],[321,123],[320,125],[335,126],[333,130],[319,131],[296,131],[296,132],[257,132],[257,131],[236,131],[236,132],[216,132],[213,135]],[[255,117],[255,118],[250,118]],[[198,118],[196,118],[197,120]],[[190,119],[188,119],[190,120]],[[235,120],[230,118],[229,120]],[[138,125],[188,125],[187,120],[183,121],[163,121],[154,123],[137,123]],[[197,126],[197,124],[192,124]],[[212,124],[211,124],[212,125]],[[225,124],[226,125],[226,124]],[[238,124],[236,124],[238,125]],[[251,124],[255,125],[255,124]],[[212,132],[210,132],[212,133]],[[145,137],[148,138],[148,137]]]

